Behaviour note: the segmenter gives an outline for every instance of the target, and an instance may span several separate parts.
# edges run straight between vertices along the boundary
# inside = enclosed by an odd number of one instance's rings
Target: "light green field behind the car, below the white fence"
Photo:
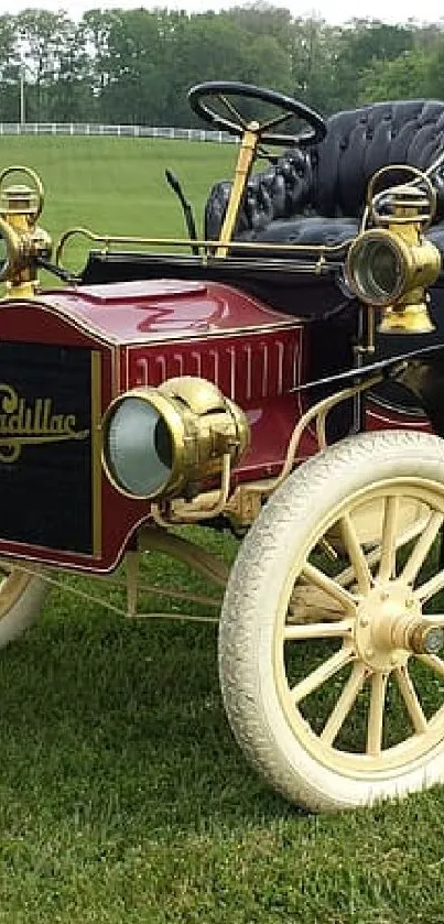
[[[98,233],[184,237],[165,167],[178,176],[201,233],[206,195],[215,181],[231,176],[236,151],[231,144],[155,139],[12,135],[0,138],[0,169],[23,164],[39,173],[45,187],[40,224],[54,242],[79,225]],[[83,244],[67,252],[73,265],[84,254]]]

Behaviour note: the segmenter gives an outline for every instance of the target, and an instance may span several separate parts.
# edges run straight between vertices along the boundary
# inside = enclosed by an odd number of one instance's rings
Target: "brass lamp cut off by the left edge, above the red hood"
[[[30,176],[34,187],[6,187],[3,180],[12,172]],[[36,224],[43,198],[40,177],[29,167],[8,167],[0,174],[0,281],[7,297],[32,298],[39,284],[36,260],[51,259],[51,238]]]

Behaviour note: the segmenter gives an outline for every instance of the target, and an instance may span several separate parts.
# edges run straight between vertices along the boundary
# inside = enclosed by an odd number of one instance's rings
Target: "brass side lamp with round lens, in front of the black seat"
[[[435,193],[429,177],[409,170],[424,178],[425,192],[424,186],[410,183],[373,196],[367,218],[379,227],[356,238],[346,261],[351,291],[365,304],[382,308],[379,330],[383,334],[427,334],[434,329],[426,290],[440,274],[441,254],[424,237],[424,229],[435,210]]]

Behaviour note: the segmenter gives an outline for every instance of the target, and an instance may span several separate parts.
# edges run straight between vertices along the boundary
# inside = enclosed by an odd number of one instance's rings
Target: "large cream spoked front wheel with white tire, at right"
[[[444,442],[345,439],[273,494],[230,575],[226,711],[251,763],[313,811],[444,780]]]

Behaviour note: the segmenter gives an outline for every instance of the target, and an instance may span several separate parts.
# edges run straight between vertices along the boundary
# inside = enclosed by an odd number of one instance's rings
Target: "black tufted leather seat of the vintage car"
[[[400,163],[425,169],[443,148],[440,100],[377,102],[331,116],[324,141],[290,149],[274,167],[253,175],[236,238],[339,243],[356,233],[367,184],[377,170]],[[430,236],[444,252],[444,167],[434,184],[437,214]],[[219,233],[229,189],[227,182],[212,189],[205,209],[209,239]]]

